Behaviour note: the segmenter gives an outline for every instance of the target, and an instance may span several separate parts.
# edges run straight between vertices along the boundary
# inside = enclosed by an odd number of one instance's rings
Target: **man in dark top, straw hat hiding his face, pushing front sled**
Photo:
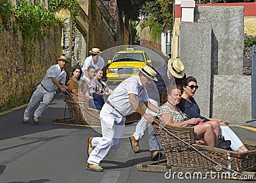
[[[181,84],[182,80],[186,78],[186,74],[184,73],[184,65],[182,61],[175,58],[168,60],[167,65],[164,64],[163,66],[157,67],[156,72],[157,81],[154,82],[156,86],[154,87],[153,84],[150,84],[150,86],[147,88],[147,92],[148,96],[150,96],[150,102],[158,107],[160,102],[157,101],[161,99],[161,94],[163,93],[164,88],[166,88],[166,86],[171,83]],[[156,90],[158,90],[158,92],[156,92]],[[146,112],[156,116],[156,113],[150,111],[149,109],[147,109]],[[161,157],[162,154],[159,152],[157,139],[153,136],[155,132],[154,128],[152,125],[148,125],[148,123],[146,123],[145,118],[141,118],[140,122],[138,122],[136,125],[136,131],[130,136],[132,150],[135,153],[139,152],[139,141],[143,137],[147,127],[150,157],[152,161],[156,161],[159,159],[159,156]]]

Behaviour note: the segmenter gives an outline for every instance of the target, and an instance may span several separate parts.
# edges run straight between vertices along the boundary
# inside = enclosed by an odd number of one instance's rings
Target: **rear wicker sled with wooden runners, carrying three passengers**
[[[65,118],[64,113],[63,119],[52,120],[54,124],[100,126],[100,111],[89,107],[89,99],[86,99],[84,95],[77,97],[70,92],[66,92],[65,97],[65,112],[68,106],[70,118]],[[140,113],[134,111],[131,115],[126,116],[125,125],[137,122],[140,119]]]

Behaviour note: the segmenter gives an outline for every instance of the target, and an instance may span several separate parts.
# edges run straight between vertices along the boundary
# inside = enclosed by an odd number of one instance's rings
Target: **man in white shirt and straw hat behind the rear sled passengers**
[[[87,68],[90,65],[92,65],[95,70],[97,70],[98,68],[102,69],[104,67],[104,60],[101,56],[99,56],[99,54],[101,53],[100,49],[94,47],[89,52],[91,53],[91,55],[84,60],[84,65],[82,67],[82,71],[84,73],[83,77],[87,76]]]

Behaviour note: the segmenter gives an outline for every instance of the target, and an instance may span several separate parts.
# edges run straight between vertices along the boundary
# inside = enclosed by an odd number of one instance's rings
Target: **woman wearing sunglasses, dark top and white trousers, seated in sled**
[[[198,89],[196,78],[193,76],[189,76],[183,81],[183,90],[182,99],[180,100],[180,104],[178,105],[180,110],[191,118],[201,118],[204,122],[212,123],[212,126],[216,125],[216,122],[220,125],[220,135],[224,136],[225,139],[229,139],[231,141],[230,148],[236,152],[246,152],[248,151],[246,147],[244,147],[241,140],[237,137],[237,135],[228,127],[228,122],[225,122],[220,119],[208,119],[204,116],[200,115],[200,108],[198,104],[196,104],[193,96],[195,95],[196,90]],[[217,137],[215,137],[217,138]]]

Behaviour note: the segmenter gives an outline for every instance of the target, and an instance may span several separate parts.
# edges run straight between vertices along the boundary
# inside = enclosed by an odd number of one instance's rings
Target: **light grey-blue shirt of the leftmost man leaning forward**
[[[44,85],[47,91],[54,92],[58,89],[58,86],[52,82],[52,77],[55,77],[58,83],[65,84],[66,76],[67,73],[65,72],[64,68],[61,70],[60,65],[52,65],[50,68],[48,68],[41,83]]]

